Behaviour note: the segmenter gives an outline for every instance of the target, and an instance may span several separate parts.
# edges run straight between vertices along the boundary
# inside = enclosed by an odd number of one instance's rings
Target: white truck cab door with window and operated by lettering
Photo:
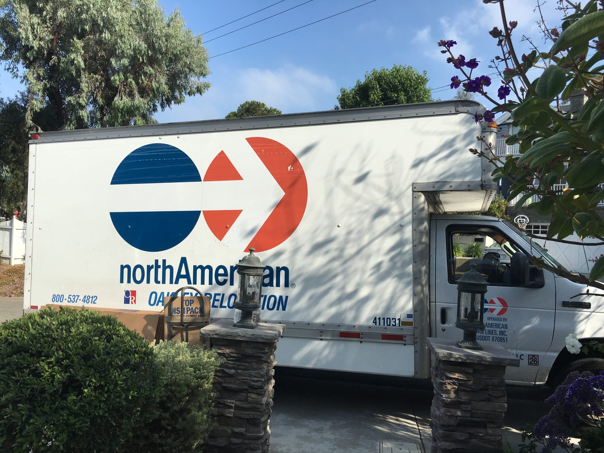
[[[528,253],[515,242],[500,222],[439,219],[435,250],[435,335],[461,339],[455,327],[456,281],[477,263],[488,283],[484,304],[484,332],[478,342],[498,344],[520,359],[520,367],[509,367],[508,381],[534,383],[554,331],[556,289],[551,272],[544,271],[540,288],[521,288],[510,283],[510,257],[516,251]]]

